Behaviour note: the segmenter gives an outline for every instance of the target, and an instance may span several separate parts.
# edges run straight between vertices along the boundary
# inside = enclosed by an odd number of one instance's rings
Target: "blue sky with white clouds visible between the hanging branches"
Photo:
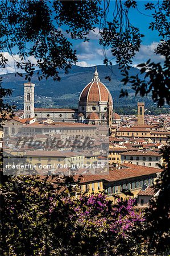
[[[139,28],[141,34],[145,35],[142,38],[140,51],[136,53],[136,56],[133,60],[132,65],[134,67],[136,67],[136,64],[143,63],[148,59],[151,59],[152,61],[156,61],[156,62],[161,62],[164,60],[163,56],[156,55],[154,53],[154,49],[159,43],[160,38],[156,31],[151,31],[150,29],[148,29],[148,27],[150,26],[150,22],[152,22],[153,18],[151,16],[150,11],[144,10],[144,4],[146,4],[147,2],[148,1],[138,0],[137,1],[138,10],[131,8],[129,12],[129,18],[131,20],[131,23],[135,27]],[[156,0],[149,1],[149,2],[156,3]],[[115,4],[115,1],[111,0],[110,11],[107,16],[107,18],[110,20],[112,19],[114,4]],[[82,42],[81,40],[72,40],[69,37],[69,35],[65,33],[64,27],[63,28],[61,27],[61,30],[63,31],[64,35],[66,35],[68,39],[71,40],[73,44],[73,49],[76,49],[77,51],[77,57],[78,57],[77,65],[81,67],[92,67],[94,65],[103,64],[104,56],[103,56],[102,46],[99,46],[99,26],[98,25],[96,25],[96,28],[94,31],[90,31],[88,35],[88,38],[90,39],[89,42]],[[5,57],[7,57],[7,59],[9,59],[9,66],[6,69],[3,69],[2,71],[0,71],[0,74],[16,72],[13,57],[10,56],[8,52],[5,52],[4,55]],[[111,56],[110,49],[107,49],[107,56]],[[14,58],[19,60],[19,57],[17,55],[15,55]],[[36,63],[34,56],[30,56],[29,59],[33,61],[33,63]],[[115,61],[113,60],[112,63],[115,64]]]

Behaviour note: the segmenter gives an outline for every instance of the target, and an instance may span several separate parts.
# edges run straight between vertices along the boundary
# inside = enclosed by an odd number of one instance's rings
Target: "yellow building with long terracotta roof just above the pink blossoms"
[[[110,170],[109,174],[101,175],[84,175],[78,183],[79,189],[82,192],[105,191],[110,200],[115,201],[114,195],[125,198],[123,189],[130,189],[134,197],[143,188],[143,184],[151,185],[155,183],[162,170],[157,170],[151,167],[139,167],[134,164],[122,164],[119,170]],[[74,177],[75,183],[78,179]]]

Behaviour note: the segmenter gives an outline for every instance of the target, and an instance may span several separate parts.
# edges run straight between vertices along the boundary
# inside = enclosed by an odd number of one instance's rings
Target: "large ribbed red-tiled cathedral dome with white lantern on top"
[[[85,88],[82,90],[79,98],[79,102],[113,102],[111,94],[105,85],[99,80],[97,68],[94,72],[94,78]]]

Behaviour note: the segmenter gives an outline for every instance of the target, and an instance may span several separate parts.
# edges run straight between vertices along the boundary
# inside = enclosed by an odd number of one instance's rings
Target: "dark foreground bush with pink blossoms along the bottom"
[[[18,176],[2,185],[1,255],[138,255],[143,216],[134,200],[68,197],[71,181]],[[138,234],[138,236],[136,235]]]

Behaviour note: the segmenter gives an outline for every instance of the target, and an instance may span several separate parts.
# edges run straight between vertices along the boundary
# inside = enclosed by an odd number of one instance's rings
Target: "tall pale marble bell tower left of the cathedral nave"
[[[24,84],[24,118],[34,117],[34,87],[35,84]]]

